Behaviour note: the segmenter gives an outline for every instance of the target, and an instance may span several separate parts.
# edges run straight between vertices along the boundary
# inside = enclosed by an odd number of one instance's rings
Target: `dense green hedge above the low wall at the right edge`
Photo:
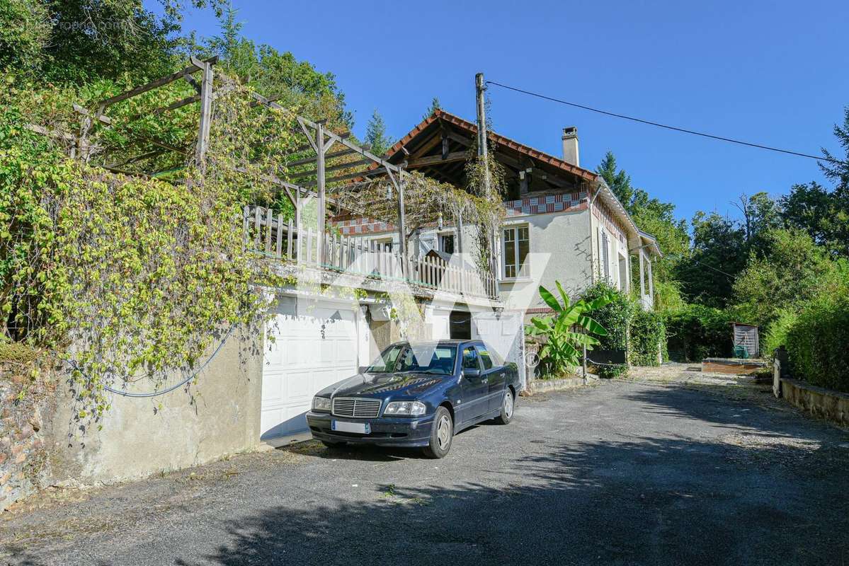
[[[786,336],[795,378],[849,392],[849,294],[824,294],[810,301]]]

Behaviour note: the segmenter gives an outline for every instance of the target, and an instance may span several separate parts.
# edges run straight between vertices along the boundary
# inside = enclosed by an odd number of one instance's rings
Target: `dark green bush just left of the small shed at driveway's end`
[[[666,348],[674,361],[702,361],[732,355],[732,319],[711,306],[687,305],[664,313]]]

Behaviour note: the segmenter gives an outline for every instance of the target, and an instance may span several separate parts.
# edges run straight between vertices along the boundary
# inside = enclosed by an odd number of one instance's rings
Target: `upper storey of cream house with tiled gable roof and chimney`
[[[475,123],[437,109],[393,145],[385,159],[464,187],[464,166],[476,137]],[[580,166],[577,129],[564,128],[562,157],[496,132],[488,137],[507,186],[503,226],[496,238],[496,277],[505,307],[527,315],[550,311],[537,288],[553,290],[555,280],[573,296],[602,279],[630,293],[631,274],[638,273],[638,296],[644,308],[652,308],[652,260],[661,249],[637,227],[604,179]],[[361,230],[363,226],[368,229]],[[367,219],[340,227],[349,235],[367,234],[363,237],[380,245],[398,245],[395,227]],[[430,250],[451,255],[460,236],[455,226],[435,226],[419,231],[408,248],[417,255]]]

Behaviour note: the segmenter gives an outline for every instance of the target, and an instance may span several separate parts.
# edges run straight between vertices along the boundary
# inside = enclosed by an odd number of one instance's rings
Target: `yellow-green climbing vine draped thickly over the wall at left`
[[[47,137],[25,128],[25,92],[6,84],[3,332],[76,368],[81,417],[108,408],[105,385],[146,378],[158,386],[174,371],[195,367],[228,327],[263,320],[268,303],[256,285],[278,279],[273,266],[245,250],[239,218],[246,202],[269,199],[263,172],[280,165],[275,156],[293,143],[281,133],[292,131],[289,116],[272,112],[257,120],[241,89],[219,97],[205,173],[189,162],[180,182],[171,183],[66,159]],[[76,98],[62,91],[31,95],[48,109],[61,105],[56,97]],[[266,139],[269,132],[278,137]],[[266,143],[256,150],[259,139]]]

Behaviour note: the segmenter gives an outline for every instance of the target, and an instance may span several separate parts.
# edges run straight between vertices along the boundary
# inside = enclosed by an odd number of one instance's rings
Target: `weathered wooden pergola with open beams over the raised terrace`
[[[209,59],[190,58],[189,64],[181,70],[177,70],[168,76],[162,76],[154,81],[146,82],[138,87],[133,87],[126,92],[121,92],[110,98],[100,100],[95,104],[89,105],[89,108],[83,108],[79,104],[74,104],[73,108],[79,115],[79,131],[76,133],[63,132],[56,129],[49,129],[40,125],[30,125],[30,129],[47,135],[49,137],[58,138],[69,147],[71,157],[76,159],[86,160],[93,165],[103,167],[108,171],[115,173],[145,176],[145,177],[166,177],[173,171],[179,170],[181,167],[171,167],[165,170],[156,171],[156,167],[151,164],[155,163],[156,159],[162,161],[161,156],[175,154],[183,159],[182,163],[186,163],[194,157],[194,162],[200,168],[200,171],[205,171],[207,160],[211,157],[210,131],[212,121],[215,120],[213,112],[213,102],[216,98],[233,92],[239,88],[239,84],[223,75],[217,77],[214,72],[214,66],[217,62],[216,57]],[[149,112],[144,113],[144,116],[155,116],[157,118],[166,117],[169,113],[177,109],[188,107],[196,108],[196,115],[193,115],[197,123],[197,138],[194,143],[175,144],[171,141],[157,139],[156,137],[143,137],[134,140],[138,145],[138,153],[127,154],[126,148],[122,149],[125,153],[121,154],[120,159],[115,159],[110,155],[110,149],[98,147],[95,144],[89,143],[93,132],[96,128],[115,128],[121,126],[120,121],[116,121],[115,115],[121,115],[122,112],[110,113],[110,109],[115,109],[116,104],[129,101],[133,98],[141,97],[148,92],[153,92],[156,89],[161,89],[171,83],[185,81],[191,86],[194,92],[188,97],[178,98],[167,102]],[[180,90],[180,88],[177,88]],[[183,88],[182,90],[187,90]],[[267,182],[278,189],[278,193],[285,195],[295,209],[295,224],[297,228],[291,227],[288,222],[284,222],[282,217],[277,220],[273,218],[271,209],[261,212],[260,207],[252,207],[250,215],[256,213],[255,227],[261,228],[263,232],[267,231],[266,251],[268,250],[268,242],[272,238],[272,226],[277,227],[278,231],[278,254],[280,249],[280,231],[282,228],[297,233],[296,238],[305,238],[308,234],[310,241],[315,241],[315,248],[318,266],[327,265],[327,256],[332,257],[342,255],[340,249],[344,249],[346,245],[351,247],[351,243],[340,243],[332,235],[329,235],[326,230],[326,219],[328,211],[332,207],[338,214],[346,211],[354,216],[363,216],[374,220],[385,221],[387,224],[394,225],[399,233],[400,241],[400,264],[402,274],[405,277],[411,277],[416,273],[433,273],[439,269],[452,272],[452,277],[459,281],[456,289],[459,291],[468,291],[469,274],[465,273],[465,267],[450,267],[447,262],[441,262],[439,266],[431,264],[419,264],[412,266],[410,256],[408,255],[408,233],[407,233],[407,213],[405,210],[405,188],[408,182],[411,181],[411,173],[407,171],[408,163],[406,160],[398,160],[397,156],[393,159],[394,162],[385,160],[377,154],[369,151],[368,146],[363,147],[357,143],[353,143],[351,132],[334,132],[327,126],[326,121],[313,121],[304,116],[296,115],[291,109],[278,104],[271,98],[266,98],[261,94],[253,91],[248,91],[252,100],[250,107],[263,107],[273,111],[283,112],[289,118],[290,132],[294,134],[296,139],[301,142],[294,148],[287,149],[282,157],[283,161],[280,165],[284,168],[284,173],[280,171],[262,171],[261,181]],[[482,101],[482,98],[481,98]],[[482,104],[482,102],[481,102]],[[482,106],[481,106],[482,109]],[[185,112],[185,110],[183,110]],[[112,116],[110,116],[112,114]],[[126,111],[123,112],[126,114]],[[131,115],[126,122],[132,122],[142,118],[143,115]],[[118,119],[121,120],[121,119]],[[70,129],[70,128],[68,128]],[[484,144],[485,145],[485,144]],[[193,155],[194,154],[194,155]],[[96,158],[96,161],[92,161]],[[147,166],[145,164],[148,164]],[[245,168],[253,163],[244,163],[242,166],[236,165],[235,172],[247,172]],[[256,172],[256,171],[255,171]],[[418,177],[421,179],[421,177]],[[382,203],[384,213],[396,213],[396,218],[381,218],[376,213],[376,209],[380,207],[374,206],[357,206],[354,202],[357,199],[347,198],[351,193],[356,193],[360,188],[372,187],[375,183],[380,183],[385,187],[387,199],[393,199],[394,204]],[[411,185],[413,187],[413,185]],[[464,193],[465,194],[465,193]],[[342,195],[343,198],[335,198],[336,195]],[[303,203],[306,199],[315,199],[318,202],[317,210],[317,238],[313,238],[313,234],[306,230],[301,230],[302,216],[305,213]],[[249,227],[249,208],[245,207],[245,228]],[[362,210],[368,208],[368,211]],[[417,210],[419,214],[419,210]],[[265,216],[262,216],[265,215]],[[395,216],[392,214],[392,216]],[[419,214],[420,216],[420,214]],[[251,220],[252,221],[252,220]],[[419,219],[420,221],[420,219]],[[436,218],[434,219],[436,221]],[[440,216],[441,221],[441,216]],[[462,219],[458,219],[462,221]],[[302,236],[303,235],[303,236]],[[289,237],[289,240],[292,238]],[[259,241],[259,238],[257,238]],[[297,243],[298,254],[300,255],[300,245]],[[462,245],[462,244],[461,244]],[[273,247],[273,246],[272,246]],[[368,251],[369,249],[363,246],[353,246],[358,250]],[[289,244],[291,250],[291,243]],[[374,251],[374,250],[372,250]],[[312,257],[312,255],[310,256]],[[300,258],[299,258],[300,261]],[[444,264],[444,265],[443,265]],[[332,264],[336,265],[336,264]],[[483,289],[488,296],[497,296],[498,283],[492,276],[492,273],[482,274],[486,279],[483,283]],[[418,277],[416,277],[418,278]],[[427,277],[425,277],[427,278]],[[436,284],[437,277],[430,277],[430,282]]]

